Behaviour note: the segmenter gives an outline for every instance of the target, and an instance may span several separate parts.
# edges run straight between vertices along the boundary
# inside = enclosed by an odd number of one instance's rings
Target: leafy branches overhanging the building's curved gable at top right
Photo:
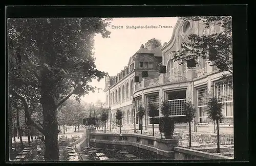
[[[173,51],[175,61],[183,64],[187,60],[200,58],[209,60],[211,66],[216,66],[224,74],[226,80],[232,79],[232,18],[231,16],[183,17],[184,21],[203,21],[210,33],[199,36],[190,34],[187,40],[181,43],[181,50]],[[222,31],[215,32],[213,26],[221,27]],[[213,31],[211,31],[213,30]],[[198,64],[198,62],[196,61]],[[231,75],[230,75],[231,74]]]

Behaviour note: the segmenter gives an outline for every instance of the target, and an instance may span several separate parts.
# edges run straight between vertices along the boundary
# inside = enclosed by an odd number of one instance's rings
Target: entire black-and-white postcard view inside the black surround
[[[231,160],[231,16],[8,18],[11,162]]]

